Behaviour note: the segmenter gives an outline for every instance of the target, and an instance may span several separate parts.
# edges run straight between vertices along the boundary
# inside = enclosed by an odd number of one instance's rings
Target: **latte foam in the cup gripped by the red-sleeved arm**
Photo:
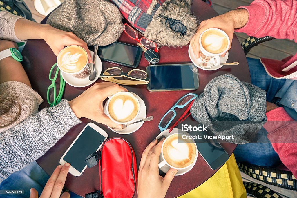
[[[228,47],[228,39],[222,32],[211,29],[202,35],[201,45],[206,51],[219,54]]]

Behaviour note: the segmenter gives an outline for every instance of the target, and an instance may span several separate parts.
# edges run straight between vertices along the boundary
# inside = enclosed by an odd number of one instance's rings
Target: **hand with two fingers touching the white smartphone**
[[[48,182],[40,195],[40,198],[59,198],[62,192],[70,164],[66,163],[64,166],[59,165],[50,176]],[[70,194],[64,192],[60,198],[69,198]],[[30,198],[38,198],[38,192],[35,189],[30,189]]]

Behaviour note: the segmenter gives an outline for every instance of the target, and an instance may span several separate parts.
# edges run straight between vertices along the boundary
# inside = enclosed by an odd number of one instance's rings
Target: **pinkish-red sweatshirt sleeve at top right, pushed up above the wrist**
[[[247,9],[247,24],[237,29],[249,36],[271,36],[279,39],[294,39],[297,42],[297,2],[295,0],[255,0]],[[295,34],[296,33],[296,34]]]

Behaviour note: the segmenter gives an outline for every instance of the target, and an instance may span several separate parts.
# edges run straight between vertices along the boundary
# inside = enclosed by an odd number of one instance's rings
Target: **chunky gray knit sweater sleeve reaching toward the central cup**
[[[42,156],[81,121],[67,100],[0,133],[0,182]]]

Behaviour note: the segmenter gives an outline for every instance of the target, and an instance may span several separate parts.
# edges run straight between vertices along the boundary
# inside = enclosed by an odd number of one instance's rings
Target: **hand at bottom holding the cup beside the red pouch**
[[[164,140],[165,138],[157,143],[155,139],[142,153],[137,179],[137,193],[139,198],[165,197],[170,183],[177,173],[176,169],[170,168],[164,178],[159,175],[159,155]]]

